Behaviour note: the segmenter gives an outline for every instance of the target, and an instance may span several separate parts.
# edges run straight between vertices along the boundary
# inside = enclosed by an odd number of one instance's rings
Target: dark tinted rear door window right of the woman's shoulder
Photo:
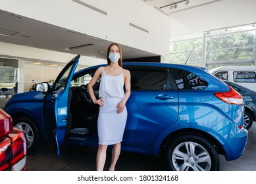
[[[130,70],[131,89],[161,90],[166,89],[167,74],[153,70]]]

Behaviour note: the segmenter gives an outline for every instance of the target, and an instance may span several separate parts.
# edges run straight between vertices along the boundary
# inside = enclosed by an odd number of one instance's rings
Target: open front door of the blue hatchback
[[[54,103],[55,120],[57,131],[55,131],[55,139],[57,143],[58,154],[59,149],[63,145],[64,140],[68,138],[70,133],[72,114],[70,114],[69,106],[72,93],[70,92],[70,83],[72,76],[78,65],[80,55],[74,57],[63,68],[51,89],[49,97]]]

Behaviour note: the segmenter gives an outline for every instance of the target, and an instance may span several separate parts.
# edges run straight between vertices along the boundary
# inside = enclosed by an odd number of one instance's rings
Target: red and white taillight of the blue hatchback
[[[218,99],[224,101],[225,103],[243,105],[242,95],[240,95],[232,87],[230,87],[230,91],[228,92],[218,92],[214,95],[218,97]]]

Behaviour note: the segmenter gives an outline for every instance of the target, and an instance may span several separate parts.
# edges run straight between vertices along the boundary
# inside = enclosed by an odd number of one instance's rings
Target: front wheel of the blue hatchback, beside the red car
[[[24,131],[26,135],[28,153],[33,152],[39,145],[39,131],[35,122],[27,117],[16,118],[13,126]]]

